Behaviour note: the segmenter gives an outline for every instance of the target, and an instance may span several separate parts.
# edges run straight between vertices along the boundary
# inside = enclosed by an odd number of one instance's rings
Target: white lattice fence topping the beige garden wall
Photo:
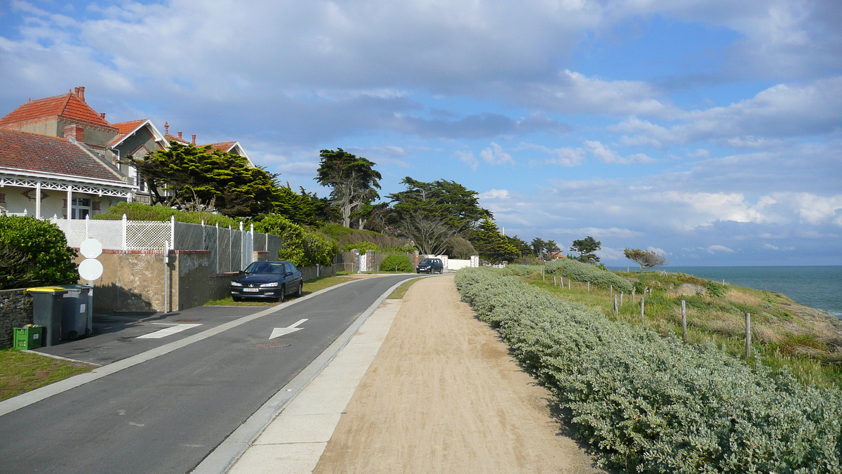
[[[218,225],[159,221],[51,218],[67,236],[67,245],[78,248],[88,238],[99,240],[104,250],[209,250],[210,267],[216,273],[237,272],[254,261],[255,251],[268,251],[274,260],[280,237]]]

